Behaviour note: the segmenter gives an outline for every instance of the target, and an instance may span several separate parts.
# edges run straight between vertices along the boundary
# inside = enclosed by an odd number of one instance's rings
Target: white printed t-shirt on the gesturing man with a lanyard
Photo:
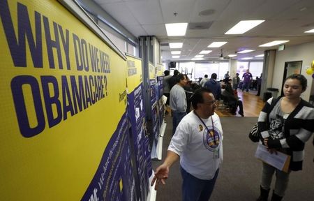
[[[214,122],[214,135],[209,134],[193,111],[186,114],[168,147],[168,150],[180,156],[180,165],[186,172],[204,180],[213,179],[223,162],[223,130],[220,119],[215,113],[209,119],[202,120],[209,131],[213,131],[211,118]]]

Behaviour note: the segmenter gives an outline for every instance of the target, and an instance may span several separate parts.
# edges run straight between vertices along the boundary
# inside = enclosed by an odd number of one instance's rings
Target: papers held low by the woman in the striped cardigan
[[[277,168],[278,170],[283,170],[285,161],[287,161],[288,158],[286,154],[283,154],[279,151],[277,151],[277,154],[270,154],[269,151],[267,151],[267,147],[265,147],[263,144],[258,144],[255,157]]]

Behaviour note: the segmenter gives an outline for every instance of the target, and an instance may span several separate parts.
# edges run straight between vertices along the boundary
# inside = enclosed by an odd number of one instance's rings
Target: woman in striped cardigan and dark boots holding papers
[[[302,170],[304,146],[314,132],[314,106],[300,97],[306,90],[306,85],[304,75],[288,76],[283,85],[284,96],[273,103],[272,98],[269,98],[260,112],[258,128],[262,144],[267,147],[270,154],[281,151],[291,156],[291,159],[288,172],[263,162],[260,197],[257,199],[259,201],[267,200],[275,172],[276,182],[272,201],[283,199],[290,172]]]

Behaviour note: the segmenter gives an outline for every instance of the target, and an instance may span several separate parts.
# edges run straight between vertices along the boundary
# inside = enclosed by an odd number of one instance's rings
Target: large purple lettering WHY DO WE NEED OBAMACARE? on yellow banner
[[[33,137],[110,96],[110,57],[22,3],[16,9],[10,13],[8,1],[0,1],[13,63],[5,67],[15,70],[10,87],[20,133]]]

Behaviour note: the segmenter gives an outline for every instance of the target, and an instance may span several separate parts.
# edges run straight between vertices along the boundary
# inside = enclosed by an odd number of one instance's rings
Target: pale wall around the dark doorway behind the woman
[[[286,61],[302,61],[301,74],[308,79],[308,89],[301,95],[304,100],[308,101],[311,95],[313,78],[312,75],[306,74],[306,68],[311,67],[314,60],[314,43],[294,45],[286,47],[283,51],[276,51],[276,60],[274,68],[273,86],[279,89],[281,94],[281,85],[283,82],[283,71]],[[314,94],[314,93],[312,93]]]

